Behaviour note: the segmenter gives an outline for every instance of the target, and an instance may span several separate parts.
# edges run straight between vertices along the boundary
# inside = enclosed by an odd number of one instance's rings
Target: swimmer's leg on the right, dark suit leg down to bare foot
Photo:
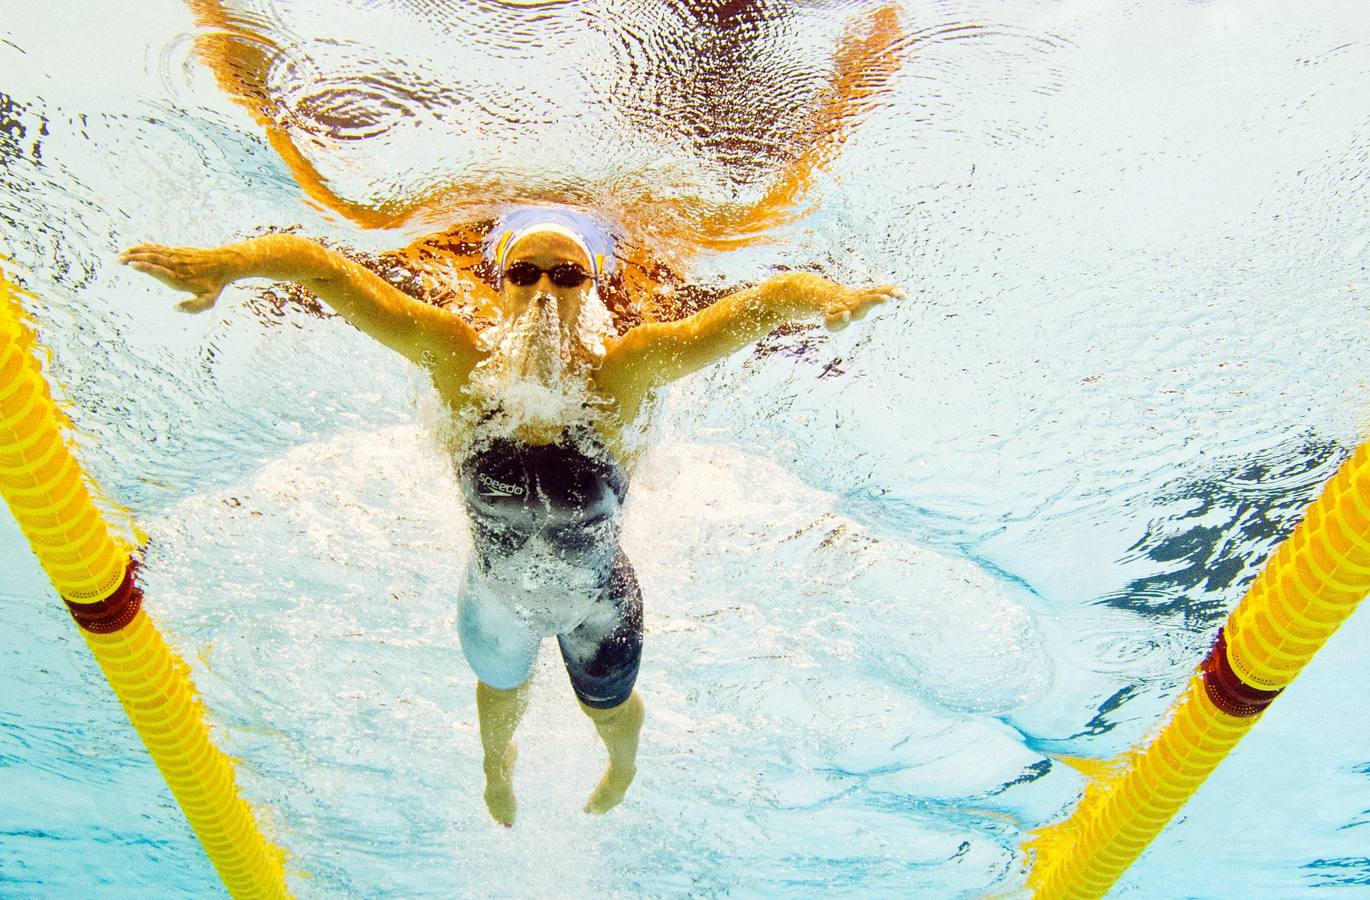
[[[608,812],[637,777],[644,718],[643,697],[633,690],[643,659],[643,593],[622,551],[603,600],[585,622],[558,636],[558,642],[575,699],[608,751],[608,767],[585,811]]]

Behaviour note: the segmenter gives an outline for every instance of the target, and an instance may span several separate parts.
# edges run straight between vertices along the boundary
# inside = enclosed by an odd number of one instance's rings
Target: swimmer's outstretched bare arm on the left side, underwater
[[[364,266],[296,234],[267,234],[214,249],[138,244],[123,251],[119,262],[193,293],[177,304],[184,312],[211,308],[223,288],[241,278],[293,281],[421,366],[469,371],[478,360],[475,329],[462,316],[415,300]]]

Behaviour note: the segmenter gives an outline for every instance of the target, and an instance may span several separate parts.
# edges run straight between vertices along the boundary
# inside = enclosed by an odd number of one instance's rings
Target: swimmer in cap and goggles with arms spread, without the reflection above
[[[364,266],[293,234],[214,249],[140,244],[119,262],[192,295],[203,312],[244,278],[301,285],[421,366],[453,423],[451,441],[474,553],[459,640],[475,671],[490,816],[514,823],[514,732],[543,638],[556,636],[581,710],[608,751],[585,803],[606,812],[637,774],[644,704],[634,689],[643,596],[619,547],[623,500],[649,399],[774,329],[845,327],[893,285],[845,288],[785,273],[677,321],[619,333],[600,296],[612,262],[603,229],[570,208],[518,210],[490,232],[499,318],[477,329]]]

